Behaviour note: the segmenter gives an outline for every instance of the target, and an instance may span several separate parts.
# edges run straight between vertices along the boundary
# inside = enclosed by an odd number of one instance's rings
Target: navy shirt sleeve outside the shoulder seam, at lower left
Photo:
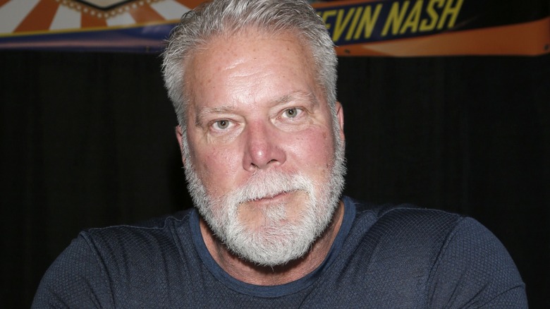
[[[44,274],[31,308],[114,308],[105,269],[83,234]]]

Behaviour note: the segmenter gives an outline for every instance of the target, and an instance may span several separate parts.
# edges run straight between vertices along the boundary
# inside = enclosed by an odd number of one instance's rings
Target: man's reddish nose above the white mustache
[[[286,154],[279,143],[279,134],[271,123],[249,123],[243,168],[254,172],[283,164]]]

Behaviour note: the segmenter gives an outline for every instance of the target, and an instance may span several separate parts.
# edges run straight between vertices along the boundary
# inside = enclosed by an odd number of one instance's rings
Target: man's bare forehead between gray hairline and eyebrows
[[[254,80],[264,81],[263,86],[273,90],[303,83],[317,88],[312,53],[303,42],[290,32],[269,35],[249,30],[231,37],[213,37],[186,61],[188,94],[198,99],[197,95],[228,92]]]

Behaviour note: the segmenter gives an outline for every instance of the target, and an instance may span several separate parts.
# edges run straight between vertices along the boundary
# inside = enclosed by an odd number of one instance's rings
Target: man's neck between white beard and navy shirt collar
[[[202,219],[200,220],[200,230],[210,255],[212,255],[218,265],[230,274],[231,277],[248,284],[273,286],[286,284],[305,277],[305,275],[322,264],[326,255],[329,254],[332,243],[334,243],[334,239],[340,230],[343,210],[343,202],[339,202],[331,223],[322,236],[314,241],[308,253],[297,260],[275,267],[262,267],[252,262],[248,262],[247,260],[240,259],[231,253],[231,251],[214,236]]]

